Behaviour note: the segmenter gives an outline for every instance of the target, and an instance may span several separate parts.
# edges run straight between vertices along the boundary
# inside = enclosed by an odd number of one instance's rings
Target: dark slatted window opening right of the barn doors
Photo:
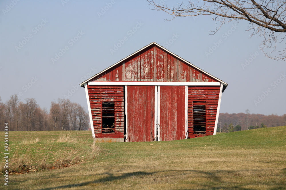
[[[206,103],[193,102],[194,134],[206,134]]]

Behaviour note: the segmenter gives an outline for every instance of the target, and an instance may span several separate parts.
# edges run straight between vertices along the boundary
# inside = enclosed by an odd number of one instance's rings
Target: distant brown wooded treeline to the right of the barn
[[[275,127],[286,125],[286,114],[283,116],[278,115],[263,115],[263,114],[249,114],[246,117],[245,113],[219,113],[219,121],[217,128],[219,128],[219,122],[221,121],[221,129],[225,126],[229,127],[229,124],[233,126],[241,126],[241,130],[248,130],[254,128]]]

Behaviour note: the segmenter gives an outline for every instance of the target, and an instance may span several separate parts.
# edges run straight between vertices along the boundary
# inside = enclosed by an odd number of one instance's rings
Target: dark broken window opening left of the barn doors
[[[102,133],[115,133],[115,102],[102,102]]]

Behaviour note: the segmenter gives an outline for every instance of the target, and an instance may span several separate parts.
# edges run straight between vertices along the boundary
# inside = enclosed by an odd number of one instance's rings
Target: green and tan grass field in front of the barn
[[[90,131],[9,132],[9,166],[32,170],[9,175],[0,189],[286,189],[286,126],[178,141],[92,141]]]

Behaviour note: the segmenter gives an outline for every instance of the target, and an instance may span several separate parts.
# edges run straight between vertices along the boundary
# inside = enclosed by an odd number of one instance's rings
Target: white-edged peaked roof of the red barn
[[[166,48],[164,48],[163,46],[160,46],[159,44],[157,44],[157,43],[155,43],[155,42],[150,43],[149,45],[147,45],[147,46],[141,48],[140,50],[134,52],[133,54],[127,56],[126,58],[120,60],[119,62],[113,64],[112,66],[106,68],[105,70],[103,70],[103,71],[101,71],[101,72],[95,74],[94,76],[90,77],[90,78],[87,79],[86,81],[82,82],[80,85],[83,87],[83,86],[84,86],[84,83],[86,83],[86,82],[88,82],[88,81],[94,79],[95,77],[101,75],[102,73],[104,73],[104,72],[108,71],[109,69],[111,69],[111,68],[117,66],[118,64],[124,62],[124,61],[127,60],[128,58],[132,57],[133,55],[137,54],[138,52],[143,51],[144,49],[146,49],[146,48],[148,48],[148,47],[150,47],[150,46],[152,46],[152,45],[155,45],[155,46],[158,46],[159,48],[162,48],[164,51],[166,51],[166,52],[168,52],[169,54],[173,55],[173,56],[174,56],[175,58],[177,58],[178,60],[181,60],[182,62],[185,62],[186,64],[192,66],[193,68],[196,68],[197,70],[199,70],[200,72],[204,73],[205,75],[208,75],[208,76],[210,76],[210,77],[216,79],[217,81],[221,82],[221,83],[223,84],[223,91],[224,91],[224,89],[227,87],[228,84],[225,83],[224,81],[222,81],[222,80],[218,79],[217,77],[214,77],[214,76],[212,76],[211,74],[207,73],[206,71],[204,71],[204,70],[202,70],[202,69],[196,67],[195,65],[193,65],[193,64],[191,64],[190,62],[184,60],[183,58],[177,56],[176,54],[170,52],[169,50],[167,50]]]

